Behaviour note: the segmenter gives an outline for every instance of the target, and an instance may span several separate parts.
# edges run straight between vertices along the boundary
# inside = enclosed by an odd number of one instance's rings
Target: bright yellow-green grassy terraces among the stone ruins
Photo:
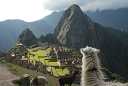
[[[28,51],[28,58],[32,64],[35,64],[36,61],[39,61],[47,66],[47,71],[50,72],[53,76],[65,76],[69,74],[69,70],[66,67],[59,66],[56,58],[49,58],[48,53],[51,48],[41,49],[33,48]]]

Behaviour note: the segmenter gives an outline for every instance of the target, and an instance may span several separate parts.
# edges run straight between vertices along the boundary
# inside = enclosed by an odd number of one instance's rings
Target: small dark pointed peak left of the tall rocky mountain
[[[18,42],[22,43],[26,47],[37,44],[37,39],[32,31],[25,29],[19,36]]]

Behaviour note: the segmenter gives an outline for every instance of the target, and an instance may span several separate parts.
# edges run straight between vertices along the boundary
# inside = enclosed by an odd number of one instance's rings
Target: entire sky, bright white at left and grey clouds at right
[[[128,0],[0,0],[0,21],[22,19],[35,21],[53,11],[78,4],[83,10],[117,9],[128,7]]]

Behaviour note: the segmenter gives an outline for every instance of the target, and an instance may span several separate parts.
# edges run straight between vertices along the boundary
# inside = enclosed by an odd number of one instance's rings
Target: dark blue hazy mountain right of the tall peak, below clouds
[[[87,12],[87,15],[104,26],[128,31],[128,8]]]

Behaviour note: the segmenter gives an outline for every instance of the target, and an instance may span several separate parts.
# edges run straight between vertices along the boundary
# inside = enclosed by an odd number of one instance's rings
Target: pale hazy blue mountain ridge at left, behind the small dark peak
[[[0,22],[0,51],[6,51],[13,47],[19,34],[26,28],[30,28],[36,37],[53,32],[51,25],[47,24],[44,20],[35,22],[6,20]]]

